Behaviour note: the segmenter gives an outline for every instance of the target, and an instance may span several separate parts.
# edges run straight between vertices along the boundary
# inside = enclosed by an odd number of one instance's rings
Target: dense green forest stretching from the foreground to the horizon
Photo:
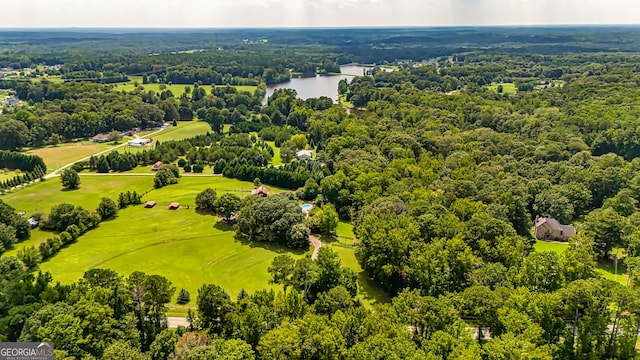
[[[637,30],[239,30],[174,34],[157,44],[152,32],[93,34],[80,43],[31,34],[0,55],[0,64],[57,63],[63,78],[89,79],[6,80],[27,105],[0,116],[7,150],[0,155],[163,121],[205,121],[206,135],[103,154],[73,169],[124,172],[177,162],[185,171],[291,190],[225,198],[237,211],[227,209],[224,219],[249,241],[304,248],[309,232],[324,227],[322,216],[335,212],[354,225],[358,263],[392,301],[366,308],[356,275],[322,247],[315,261],[274,259],[269,274],[282,291],[228,294],[203,284],[189,326],[168,329],[167,304],[175,295],[191,300],[160,275],[93,269],[61,285],[38,272],[39,261],[64,256],[58,249],[73,246],[113,207],[106,200],[95,211],[61,204],[44,221],[60,231],[52,240],[57,248],[0,258],[0,340],[54,341],[60,358],[635,358]],[[0,44],[15,36],[4,33]],[[88,48],[97,42],[118,49],[120,36],[140,44],[139,52],[116,57]],[[316,45],[303,51],[310,38]],[[181,52],[197,39],[207,39],[195,47],[201,51]],[[340,82],[340,95],[357,111],[329,98],[300,99],[293,90],[262,101],[265,85],[280,76],[336,72],[352,61],[394,66]],[[96,80],[105,71],[144,73],[162,92],[117,91]],[[173,94],[170,83],[189,90]],[[258,90],[207,93],[207,84]],[[272,141],[282,165],[272,163]],[[316,156],[296,160],[304,148]],[[2,159],[46,169],[37,158]],[[177,166],[158,174],[173,172],[177,182]],[[173,181],[165,180],[162,186]],[[140,202],[137,194],[127,198],[120,208]],[[201,209],[225,212],[224,204],[205,200]],[[312,201],[318,212],[305,220],[298,200]],[[8,248],[29,229],[15,209],[0,205]],[[564,251],[534,249],[537,216],[575,226]],[[612,274],[602,268],[613,261],[626,270],[625,281],[605,276]]]

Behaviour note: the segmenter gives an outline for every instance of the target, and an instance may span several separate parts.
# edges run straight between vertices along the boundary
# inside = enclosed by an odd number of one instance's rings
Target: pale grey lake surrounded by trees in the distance
[[[291,80],[286,83],[268,85],[267,94],[263,103],[266,104],[267,98],[271,96],[276,89],[294,89],[301,99],[326,96],[337,103],[338,82],[342,79],[350,81],[356,75],[362,76],[366,69],[371,69],[371,67],[344,65],[340,66],[340,75],[316,75],[315,77],[291,78]],[[384,69],[385,71],[392,71],[392,69]]]

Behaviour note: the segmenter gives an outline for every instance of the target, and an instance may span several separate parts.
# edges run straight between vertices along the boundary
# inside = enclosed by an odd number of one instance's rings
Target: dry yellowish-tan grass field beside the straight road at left
[[[29,150],[27,153],[40,156],[47,168],[52,170],[113,146],[115,146],[113,143],[96,144],[91,141],[80,141]]]

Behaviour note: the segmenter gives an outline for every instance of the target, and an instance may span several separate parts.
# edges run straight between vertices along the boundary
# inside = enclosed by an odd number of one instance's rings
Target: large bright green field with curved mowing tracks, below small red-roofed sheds
[[[222,286],[234,298],[243,288],[272,288],[267,268],[282,253],[289,250],[237,241],[228,227],[193,207],[171,211],[159,202],[153,209],[122,210],[117,219],[102,223],[41,268],[62,283],[76,281],[92,268],[160,274],[188,290],[195,301],[205,283]]]

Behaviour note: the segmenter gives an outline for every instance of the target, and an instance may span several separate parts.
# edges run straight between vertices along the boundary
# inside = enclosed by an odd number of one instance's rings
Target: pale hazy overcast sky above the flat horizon
[[[0,27],[640,24],[639,0],[3,0]]]

